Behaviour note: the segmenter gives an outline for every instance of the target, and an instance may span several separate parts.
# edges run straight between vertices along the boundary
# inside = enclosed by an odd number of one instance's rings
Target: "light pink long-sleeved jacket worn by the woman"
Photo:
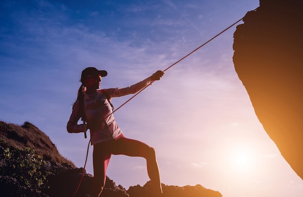
[[[151,77],[148,77],[143,81],[126,88],[110,88],[103,89],[103,91],[105,91],[109,96],[108,100],[110,102],[113,97],[136,93],[137,91],[145,88],[151,82]],[[112,108],[108,100],[100,90],[97,90],[92,94],[84,92],[84,113],[88,124],[77,123],[81,117],[78,113],[79,100],[77,100],[73,106],[71,117],[67,122],[67,131],[69,133],[85,132],[88,129],[87,125],[89,125],[91,132],[91,145],[120,136],[122,131],[115,121],[114,115],[112,114]]]

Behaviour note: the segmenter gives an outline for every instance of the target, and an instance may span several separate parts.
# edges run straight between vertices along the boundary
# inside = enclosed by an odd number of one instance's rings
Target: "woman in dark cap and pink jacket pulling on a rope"
[[[160,80],[163,71],[157,71],[152,76],[126,88],[100,89],[102,77],[107,72],[88,67],[82,71],[77,100],[67,122],[69,133],[86,132],[90,129],[91,145],[93,146],[94,185],[92,194],[99,196],[105,186],[106,169],[112,154],[144,157],[147,161],[148,175],[156,194],[162,194],[159,167],[155,150],[138,140],[126,138],[112,113],[110,100],[140,91],[154,80]],[[82,117],[87,124],[77,124]]]

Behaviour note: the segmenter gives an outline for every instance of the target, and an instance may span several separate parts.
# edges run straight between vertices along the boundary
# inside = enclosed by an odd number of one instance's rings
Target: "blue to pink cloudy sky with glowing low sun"
[[[130,86],[258,6],[258,0],[1,0],[0,120],[33,123],[83,167],[89,139],[69,134],[66,123],[84,68],[108,72],[101,88]],[[302,179],[264,131],[235,72],[235,30],[169,68],[117,110],[116,121],[125,136],[155,148],[164,184],[200,184],[223,197],[303,197]],[[130,97],[112,103],[117,108]],[[92,147],[93,174],[91,155]],[[123,155],[112,156],[107,175],[126,189],[149,181],[145,160]]]

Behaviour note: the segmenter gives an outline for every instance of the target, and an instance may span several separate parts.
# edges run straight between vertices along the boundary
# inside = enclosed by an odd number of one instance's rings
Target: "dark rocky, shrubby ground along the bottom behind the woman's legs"
[[[48,136],[30,122],[22,126],[0,121],[1,197],[72,197],[83,168],[76,168],[58,152]],[[75,197],[90,193],[93,176],[84,174]],[[163,185],[163,197],[222,197],[217,191],[196,186]],[[151,184],[125,190],[106,177],[102,197],[152,197]]]

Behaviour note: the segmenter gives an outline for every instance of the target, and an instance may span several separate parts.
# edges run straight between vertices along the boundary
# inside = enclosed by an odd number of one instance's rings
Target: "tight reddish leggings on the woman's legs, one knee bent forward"
[[[118,139],[112,139],[93,145],[94,195],[99,196],[105,186],[106,170],[112,154],[144,157],[147,163],[147,172],[154,187],[154,192],[156,194],[162,194],[155,150],[143,142],[126,138],[122,134]]]

